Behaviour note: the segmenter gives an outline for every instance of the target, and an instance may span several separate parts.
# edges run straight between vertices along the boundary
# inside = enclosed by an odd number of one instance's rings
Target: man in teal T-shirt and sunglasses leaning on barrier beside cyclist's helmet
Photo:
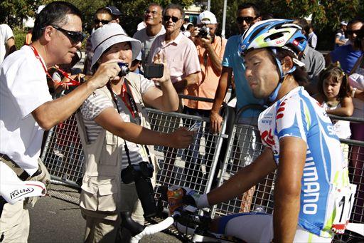
[[[219,133],[221,130],[223,118],[220,116],[219,112],[226,92],[230,86],[232,74],[234,74],[235,79],[235,93],[237,97],[236,109],[239,110],[245,105],[262,104],[262,100],[259,100],[252,95],[252,91],[245,78],[245,66],[237,51],[242,33],[252,26],[252,24],[261,21],[260,11],[255,4],[242,4],[237,9],[236,20],[240,35],[231,36],[228,39],[228,43],[226,43],[222,63],[223,70],[221,72],[218,89],[215,93],[213,108],[210,113],[210,128],[213,133]],[[252,123],[253,118],[254,123],[256,124],[258,115],[259,113],[255,110],[247,110],[247,112],[242,113],[240,122]]]

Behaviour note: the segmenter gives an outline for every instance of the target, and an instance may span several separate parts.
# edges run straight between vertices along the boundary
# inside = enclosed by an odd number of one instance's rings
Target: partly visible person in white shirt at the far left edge
[[[13,31],[7,24],[0,24],[0,63],[14,51],[16,46]]]

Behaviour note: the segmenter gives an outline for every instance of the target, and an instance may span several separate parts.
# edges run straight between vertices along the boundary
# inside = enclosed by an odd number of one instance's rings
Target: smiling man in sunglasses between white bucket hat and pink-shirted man
[[[166,29],[162,24],[163,8],[156,3],[148,6],[144,12],[144,23],[146,28],[134,33],[133,38],[141,42],[141,63],[144,65],[148,60],[151,44],[158,37],[166,33]]]

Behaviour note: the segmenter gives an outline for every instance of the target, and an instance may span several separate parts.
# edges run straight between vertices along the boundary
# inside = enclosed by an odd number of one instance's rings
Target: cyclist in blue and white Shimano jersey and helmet
[[[233,214],[214,225],[247,242],[331,242],[350,217],[343,202],[350,205],[353,195],[340,142],[325,110],[302,87],[307,78],[297,56],[306,38],[291,23],[260,21],[240,42],[252,93],[272,104],[258,121],[266,148],[207,195],[188,192],[198,207],[210,207],[242,195],[277,169],[273,215]]]

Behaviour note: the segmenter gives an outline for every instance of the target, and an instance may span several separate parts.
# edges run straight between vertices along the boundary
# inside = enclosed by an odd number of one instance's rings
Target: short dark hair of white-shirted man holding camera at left
[[[50,4],[47,4],[36,16],[31,41],[37,41],[41,38],[46,26],[55,25],[61,27],[67,24],[68,14],[73,14],[82,19],[80,10],[73,4],[66,1],[53,1]]]

